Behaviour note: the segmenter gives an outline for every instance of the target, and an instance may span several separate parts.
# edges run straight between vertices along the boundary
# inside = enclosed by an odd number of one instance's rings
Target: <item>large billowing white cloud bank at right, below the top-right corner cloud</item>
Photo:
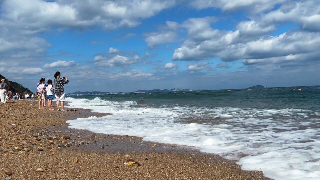
[[[266,36],[274,26],[244,21],[235,31],[212,29],[208,17],[183,23],[188,39],[175,49],[173,60],[202,60],[218,57],[224,61],[264,59],[304,54],[320,48],[319,32],[289,31]],[[245,61],[246,62],[246,61]],[[248,63],[246,63],[248,64]]]

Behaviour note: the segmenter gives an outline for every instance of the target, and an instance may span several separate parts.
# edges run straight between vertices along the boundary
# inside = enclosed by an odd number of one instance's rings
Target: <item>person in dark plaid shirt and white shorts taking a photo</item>
[[[55,72],[54,74],[54,85],[55,85],[55,98],[56,98],[56,106],[57,110],[60,110],[60,102],[61,102],[61,111],[64,110],[64,101],[65,101],[65,94],[64,94],[64,84],[69,83],[67,77],[61,78],[60,72]]]

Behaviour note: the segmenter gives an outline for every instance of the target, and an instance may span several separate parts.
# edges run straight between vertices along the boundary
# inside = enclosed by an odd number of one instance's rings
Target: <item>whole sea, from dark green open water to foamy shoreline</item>
[[[296,87],[297,88],[297,87]],[[68,97],[70,128],[199,147],[272,179],[320,179],[320,86]]]

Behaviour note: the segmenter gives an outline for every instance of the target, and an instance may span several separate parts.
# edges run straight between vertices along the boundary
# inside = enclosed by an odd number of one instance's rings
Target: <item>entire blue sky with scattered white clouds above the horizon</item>
[[[67,93],[319,85],[320,0],[0,0],[0,74]]]

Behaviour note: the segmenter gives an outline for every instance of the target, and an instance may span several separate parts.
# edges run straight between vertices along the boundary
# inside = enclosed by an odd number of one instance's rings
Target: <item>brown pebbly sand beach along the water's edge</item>
[[[68,110],[0,104],[0,179],[267,179],[196,148],[70,129],[66,120],[108,114]]]

